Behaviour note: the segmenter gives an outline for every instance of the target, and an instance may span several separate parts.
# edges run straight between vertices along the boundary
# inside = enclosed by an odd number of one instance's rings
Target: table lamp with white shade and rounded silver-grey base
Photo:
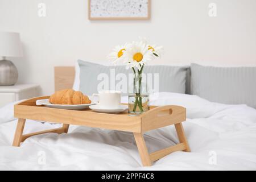
[[[18,80],[18,70],[6,57],[22,57],[19,33],[0,31],[0,86],[14,85]]]

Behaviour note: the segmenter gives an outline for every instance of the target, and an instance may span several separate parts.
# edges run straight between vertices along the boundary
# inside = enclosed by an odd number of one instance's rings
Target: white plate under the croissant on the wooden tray
[[[44,105],[47,107],[57,108],[57,109],[69,109],[69,110],[82,110],[86,109],[94,104],[79,104],[79,105],[62,105],[62,104],[51,104],[48,99],[37,100],[36,105]]]

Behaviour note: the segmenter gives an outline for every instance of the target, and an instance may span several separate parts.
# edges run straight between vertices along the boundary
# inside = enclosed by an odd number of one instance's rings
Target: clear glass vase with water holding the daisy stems
[[[133,84],[129,85],[128,113],[139,115],[149,110],[146,82],[142,82],[142,74],[134,74]]]

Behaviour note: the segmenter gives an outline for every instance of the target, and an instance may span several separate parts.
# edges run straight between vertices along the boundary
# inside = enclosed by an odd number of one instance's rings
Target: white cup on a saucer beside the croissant
[[[98,97],[98,102],[94,101],[95,97]],[[105,109],[118,109],[121,105],[121,92],[115,90],[104,90],[92,95],[92,101],[94,104],[98,104]]]

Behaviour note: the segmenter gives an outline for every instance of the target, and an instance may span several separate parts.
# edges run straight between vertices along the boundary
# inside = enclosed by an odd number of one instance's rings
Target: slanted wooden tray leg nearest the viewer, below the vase
[[[147,151],[147,146],[141,133],[133,133],[138,147],[139,155],[141,156],[143,166],[151,166],[151,159]]]

